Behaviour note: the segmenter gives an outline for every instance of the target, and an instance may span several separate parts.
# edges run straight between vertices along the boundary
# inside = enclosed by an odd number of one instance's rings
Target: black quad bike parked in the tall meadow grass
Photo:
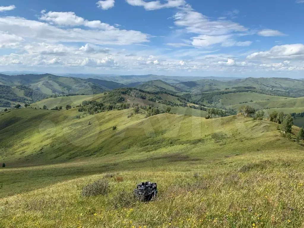
[[[156,198],[157,185],[150,181],[141,182],[140,184],[137,184],[137,188],[133,190],[133,194],[137,200],[150,201],[151,199]]]

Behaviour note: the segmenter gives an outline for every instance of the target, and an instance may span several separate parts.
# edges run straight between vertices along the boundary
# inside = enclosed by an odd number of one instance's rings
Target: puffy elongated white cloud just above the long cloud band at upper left
[[[45,12],[41,11],[40,20],[51,22],[60,26],[87,26],[96,29],[112,30],[114,26],[102,23],[101,21],[88,21],[82,17],[78,17],[74,12]]]

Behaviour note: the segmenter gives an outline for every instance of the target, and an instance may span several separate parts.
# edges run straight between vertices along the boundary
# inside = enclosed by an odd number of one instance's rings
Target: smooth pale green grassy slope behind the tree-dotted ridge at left
[[[66,105],[71,105],[73,107],[76,105],[80,105],[83,101],[100,100],[100,98],[102,98],[102,96],[103,96],[103,94],[48,98],[48,99],[44,99],[39,102],[33,103],[30,105],[30,107],[42,108],[43,105],[46,105],[48,109],[55,108],[56,106],[65,107]]]

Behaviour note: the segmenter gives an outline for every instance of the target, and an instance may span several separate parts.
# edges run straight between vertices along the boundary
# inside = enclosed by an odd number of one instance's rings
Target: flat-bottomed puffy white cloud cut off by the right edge
[[[255,52],[247,56],[247,59],[304,59],[304,45],[285,44],[272,47],[268,51]]]

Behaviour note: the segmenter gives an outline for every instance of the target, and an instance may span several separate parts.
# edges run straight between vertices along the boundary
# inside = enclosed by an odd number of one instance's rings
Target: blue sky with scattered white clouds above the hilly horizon
[[[0,71],[304,78],[304,0],[2,0]]]

